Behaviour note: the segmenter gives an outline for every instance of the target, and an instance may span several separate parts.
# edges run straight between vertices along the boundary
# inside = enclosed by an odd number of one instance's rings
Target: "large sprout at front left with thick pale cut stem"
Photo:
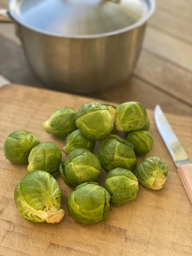
[[[21,216],[34,222],[60,222],[65,215],[57,181],[41,170],[25,175],[15,187],[15,205]]]

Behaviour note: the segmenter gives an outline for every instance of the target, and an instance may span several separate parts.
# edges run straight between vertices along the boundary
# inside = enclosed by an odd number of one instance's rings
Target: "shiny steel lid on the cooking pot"
[[[154,0],[11,0],[20,24],[55,36],[92,37],[131,29],[147,20]]]

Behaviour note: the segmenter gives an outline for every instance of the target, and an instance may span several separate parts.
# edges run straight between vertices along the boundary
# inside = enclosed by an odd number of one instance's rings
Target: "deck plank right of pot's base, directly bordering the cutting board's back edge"
[[[139,101],[146,108],[150,109],[154,109],[156,104],[160,104],[164,111],[177,113],[178,115],[192,116],[191,106],[180,102],[163,91],[157,90],[147,82],[141,81],[134,76],[131,77],[128,83],[112,88],[110,92],[101,92],[98,96],[104,100],[115,101],[117,103]]]

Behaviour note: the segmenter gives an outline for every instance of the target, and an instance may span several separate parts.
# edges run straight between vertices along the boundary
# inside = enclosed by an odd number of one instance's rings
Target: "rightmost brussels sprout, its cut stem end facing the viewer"
[[[150,156],[137,165],[135,175],[144,187],[157,190],[165,185],[168,167],[161,158]]]

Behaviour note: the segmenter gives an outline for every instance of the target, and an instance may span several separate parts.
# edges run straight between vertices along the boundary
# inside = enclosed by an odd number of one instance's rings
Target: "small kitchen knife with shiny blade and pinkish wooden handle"
[[[192,204],[192,164],[159,105],[155,107],[154,118],[157,129],[177,166],[180,179]]]

